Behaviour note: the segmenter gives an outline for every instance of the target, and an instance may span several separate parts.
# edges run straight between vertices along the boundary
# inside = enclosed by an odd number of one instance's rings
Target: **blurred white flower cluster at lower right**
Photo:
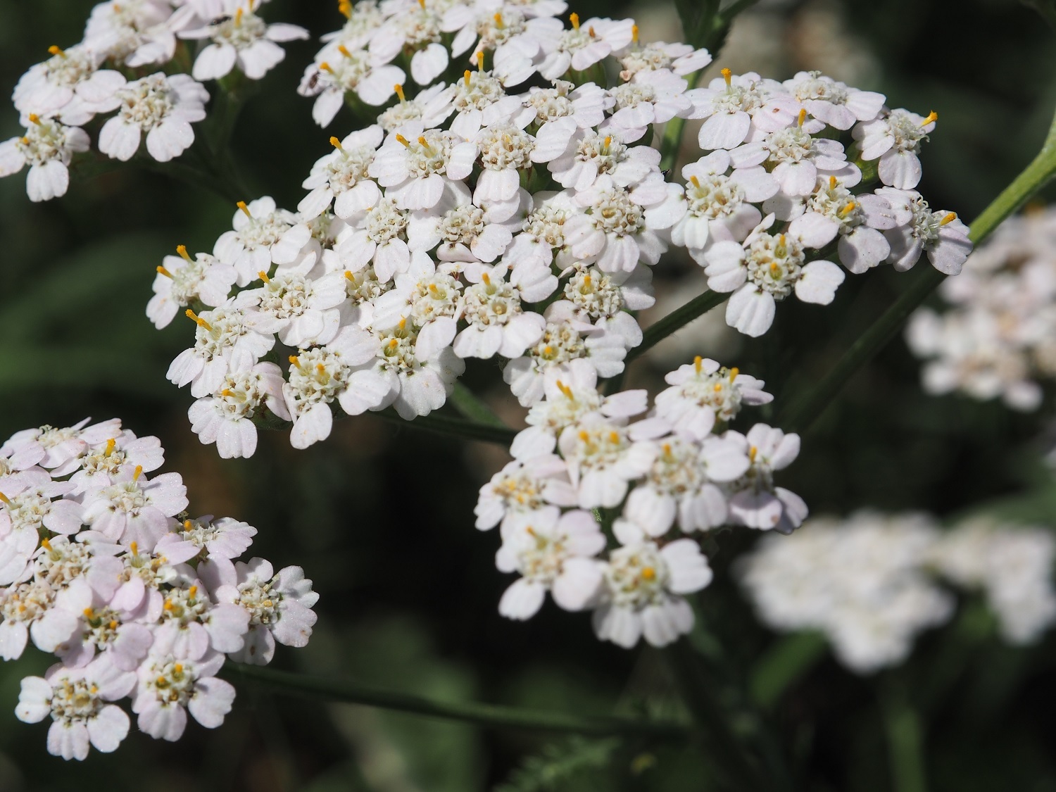
[[[981,589],[1004,640],[1036,641],[1056,622],[1050,530],[977,518],[948,531],[922,514],[861,511],[767,536],[740,561],[759,618],[819,630],[859,674],[903,662],[922,630],[945,623],[954,598],[940,578]]]

